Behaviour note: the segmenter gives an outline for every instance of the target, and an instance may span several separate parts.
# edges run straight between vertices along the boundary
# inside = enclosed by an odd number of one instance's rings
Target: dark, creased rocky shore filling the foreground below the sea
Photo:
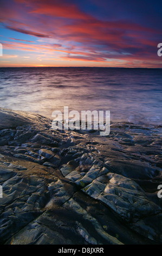
[[[0,243],[162,243],[161,127],[54,131],[0,108]]]

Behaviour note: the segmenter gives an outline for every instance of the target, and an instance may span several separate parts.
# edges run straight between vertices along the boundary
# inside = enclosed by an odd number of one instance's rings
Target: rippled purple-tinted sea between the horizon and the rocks
[[[162,124],[162,69],[1,68],[0,107],[110,110],[111,121]]]

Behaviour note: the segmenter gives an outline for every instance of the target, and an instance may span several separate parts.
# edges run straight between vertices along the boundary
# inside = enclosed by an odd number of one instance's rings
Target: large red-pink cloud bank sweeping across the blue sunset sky
[[[3,1],[0,15],[3,26],[10,31],[40,38],[38,42],[10,38],[25,44],[4,42],[5,48],[24,51],[25,56],[27,52],[42,52],[53,59],[103,63],[110,63],[109,59],[136,64],[137,60],[157,60],[158,29],[127,17],[99,19],[79,9],[73,0]]]

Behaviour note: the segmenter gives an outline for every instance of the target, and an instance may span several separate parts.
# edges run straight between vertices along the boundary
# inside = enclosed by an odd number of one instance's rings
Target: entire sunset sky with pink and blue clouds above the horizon
[[[162,68],[161,23],[161,0],[1,0],[0,67]]]

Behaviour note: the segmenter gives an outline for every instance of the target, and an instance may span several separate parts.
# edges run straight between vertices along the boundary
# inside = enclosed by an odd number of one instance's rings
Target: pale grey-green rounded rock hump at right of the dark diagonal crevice
[[[130,220],[160,212],[158,205],[150,202],[134,181],[118,174],[107,175],[110,178],[109,183],[98,199],[110,206],[122,218]]]

